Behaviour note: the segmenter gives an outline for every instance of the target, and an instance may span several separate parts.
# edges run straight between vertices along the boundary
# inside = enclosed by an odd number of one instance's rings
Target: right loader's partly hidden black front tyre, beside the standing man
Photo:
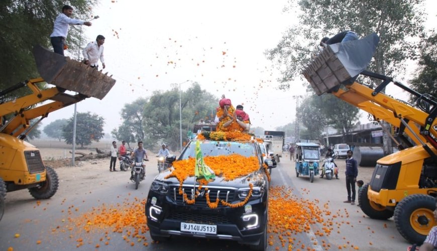
[[[369,190],[369,184],[364,185],[358,193],[358,203],[360,204],[361,210],[372,219],[386,220],[392,217],[394,213],[392,210],[369,200],[367,190]]]

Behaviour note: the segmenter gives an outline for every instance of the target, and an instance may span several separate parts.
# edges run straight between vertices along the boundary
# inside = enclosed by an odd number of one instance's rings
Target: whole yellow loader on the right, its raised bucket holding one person
[[[377,165],[369,184],[358,200],[371,218],[394,216],[399,233],[411,243],[420,244],[436,225],[433,217],[437,196],[437,100],[420,94],[391,77],[366,70],[379,38],[366,38],[326,46],[303,71],[317,95],[329,92],[399,128],[399,152],[385,156]],[[376,88],[356,81],[358,75],[380,84]],[[390,83],[416,97],[416,105],[399,101],[382,92]],[[405,133],[407,137],[403,136]],[[391,136],[389,134],[389,136]]]

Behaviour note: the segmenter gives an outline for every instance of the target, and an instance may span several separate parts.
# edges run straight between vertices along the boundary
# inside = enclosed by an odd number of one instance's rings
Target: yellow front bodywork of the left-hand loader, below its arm
[[[38,151],[38,149],[16,137],[0,134],[0,177],[5,182],[29,185],[46,180],[45,170],[33,174],[29,172],[25,151]]]

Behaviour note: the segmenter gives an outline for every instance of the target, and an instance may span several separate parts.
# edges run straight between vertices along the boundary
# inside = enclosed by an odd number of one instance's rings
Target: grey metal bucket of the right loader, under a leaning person
[[[378,35],[372,33],[363,39],[328,45],[302,73],[320,96],[365,70],[378,43]]]

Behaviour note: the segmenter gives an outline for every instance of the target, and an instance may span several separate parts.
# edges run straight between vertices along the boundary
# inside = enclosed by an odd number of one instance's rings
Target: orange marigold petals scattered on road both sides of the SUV
[[[305,193],[309,193],[309,190],[302,189],[301,194]],[[61,205],[64,203],[66,203],[65,199]],[[68,234],[68,238],[76,247],[84,244],[93,245],[95,248],[109,245],[111,237],[116,237],[114,233],[119,233],[130,246],[138,244],[148,246],[150,243],[158,243],[146,238],[146,232],[149,229],[144,213],[145,203],[146,199],[131,198],[129,194],[123,203],[114,205],[103,203],[87,212],[80,212],[74,205],[65,205],[68,209],[62,212],[67,215],[59,219],[58,225],[52,227],[51,232],[52,234]],[[40,204],[41,202],[38,201],[37,206]],[[345,237],[341,245],[332,245],[326,238],[333,232],[340,234],[342,224],[346,223],[347,226],[353,227],[349,221],[345,220],[348,217],[349,213],[346,209],[332,212],[329,203],[325,203],[320,208],[317,200],[299,198],[293,194],[292,189],[285,186],[272,186],[269,190],[268,244],[275,246],[276,250],[283,248],[313,250],[318,247],[325,250],[359,249]],[[304,238],[298,236],[302,233],[310,237],[309,244],[305,244]],[[101,236],[95,237],[99,234]],[[18,233],[15,237],[17,235]],[[37,244],[40,243],[41,241],[38,240]]]

